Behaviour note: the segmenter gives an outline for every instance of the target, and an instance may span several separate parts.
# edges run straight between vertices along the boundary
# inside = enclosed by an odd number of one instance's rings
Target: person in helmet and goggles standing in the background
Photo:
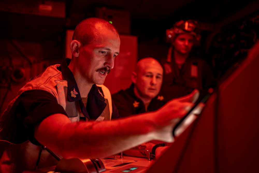
[[[170,43],[167,58],[163,60],[162,93],[167,99],[178,98],[194,89],[200,91],[214,87],[215,78],[208,64],[190,55],[193,46],[200,45],[200,25],[195,20],[181,20],[166,30]]]

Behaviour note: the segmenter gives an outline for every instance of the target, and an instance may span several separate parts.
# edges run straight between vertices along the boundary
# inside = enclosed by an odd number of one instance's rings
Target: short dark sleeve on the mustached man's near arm
[[[15,101],[15,115],[17,131],[15,143],[30,140],[35,145],[40,143],[34,138],[34,127],[46,117],[61,113],[67,116],[66,111],[57,103],[56,98],[44,90],[28,90],[23,92]]]

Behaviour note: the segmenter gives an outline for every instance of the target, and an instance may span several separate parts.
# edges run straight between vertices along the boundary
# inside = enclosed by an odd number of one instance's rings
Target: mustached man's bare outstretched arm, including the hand
[[[196,93],[174,99],[155,112],[112,121],[71,122],[53,114],[36,127],[34,136],[65,158],[102,158],[150,140],[172,142],[172,128],[193,105]]]

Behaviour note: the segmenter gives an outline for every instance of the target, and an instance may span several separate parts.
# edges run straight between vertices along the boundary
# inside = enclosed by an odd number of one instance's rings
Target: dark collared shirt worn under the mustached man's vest
[[[71,97],[68,94],[67,98],[69,102],[81,102],[82,98],[75,78],[68,68],[69,63],[70,59],[65,59],[57,69],[62,72],[63,77],[67,80],[68,93],[71,93],[74,89],[78,93],[76,94],[76,97]],[[84,107],[83,103],[81,104],[82,113],[89,120],[96,120],[106,106],[105,100],[98,89],[102,92],[96,85],[92,86],[88,94],[87,108]],[[112,104],[112,110],[112,119],[118,118],[118,110],[114,104]],[[16,144],[30,140],[33,144],[40,145],[34,138],[35,125],[55,113],[61,113],[68,116],[63,107],[58,104],[56,98],[51,93],[44,90],[27,90],[21,93],[13,104],[10,112],[15,114],[14,119],[17,124],[15,137],[10,142]]]

